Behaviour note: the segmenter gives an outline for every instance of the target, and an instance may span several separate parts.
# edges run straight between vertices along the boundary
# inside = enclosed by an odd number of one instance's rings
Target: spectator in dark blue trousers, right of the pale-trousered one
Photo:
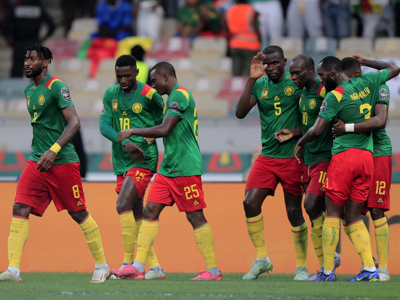
[[[322,20],[328,38],[346,38],[350,36],[349,0],[322,0]]]

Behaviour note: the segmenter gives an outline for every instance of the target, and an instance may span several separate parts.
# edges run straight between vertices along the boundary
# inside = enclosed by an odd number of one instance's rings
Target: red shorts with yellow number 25
[[[176,203],[180,212],[192,212],[206,208],[201,176],[167,177],[156,174],[147,201],[172,206]]]

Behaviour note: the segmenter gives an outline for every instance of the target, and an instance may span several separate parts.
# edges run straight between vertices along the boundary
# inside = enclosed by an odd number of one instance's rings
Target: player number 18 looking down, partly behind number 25
[[[157,170],[158,148],[133,136],[118,143],[118,132],[132,126],[146,128],[162,123],[163,100],[154,88],[136,80],[139,70],[132,55],[122,55],[115,63],[116,86],[103,97],[100,132],[112,141],[112,166],[117,175],[117,212],[122,228],[124,261],[121,268],[133,264],[137,234],[143,219],[143,198]],[[148,256],[146,279],[165,279],[153,247]]]

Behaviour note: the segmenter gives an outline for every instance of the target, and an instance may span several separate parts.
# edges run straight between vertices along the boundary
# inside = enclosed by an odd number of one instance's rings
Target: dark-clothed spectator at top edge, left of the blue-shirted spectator
[[[65,36],[71,29],[72,21],[79,17],[94,17],[96,0],[61,0],[61,9],[64,16]]]

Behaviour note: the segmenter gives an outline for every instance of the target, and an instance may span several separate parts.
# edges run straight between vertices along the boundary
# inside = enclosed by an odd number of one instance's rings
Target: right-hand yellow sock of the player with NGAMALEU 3
[[[363,220],[358,220],[348,224],[350,236],[354,247],[361,256],[364,268],[375,267],[372,259],[370,234],[365,227]]]

